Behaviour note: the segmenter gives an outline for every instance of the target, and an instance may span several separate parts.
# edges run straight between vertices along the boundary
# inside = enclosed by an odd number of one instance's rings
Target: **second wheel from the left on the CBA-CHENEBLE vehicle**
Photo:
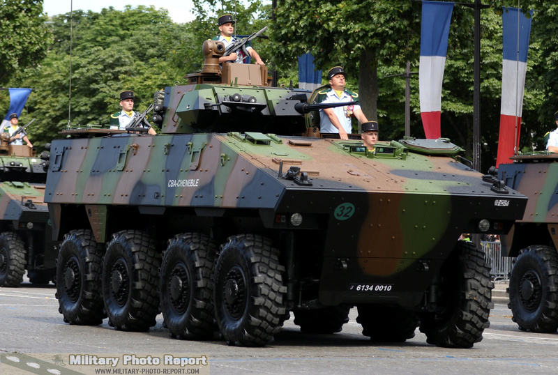
[[[116,330],[145,331],[155,326],[159,312],[161,256],[142,231],[112,235],[103,257],[103,303]]]

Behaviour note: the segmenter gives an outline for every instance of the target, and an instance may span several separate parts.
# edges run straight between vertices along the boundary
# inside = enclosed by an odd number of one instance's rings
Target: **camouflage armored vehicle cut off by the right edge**
[[[558,155],[515,155],[496,174],[529,201],[521,220],[502,237],[502,254],[517,257],[509,282],[508,307],[521,330],[558,328]]]

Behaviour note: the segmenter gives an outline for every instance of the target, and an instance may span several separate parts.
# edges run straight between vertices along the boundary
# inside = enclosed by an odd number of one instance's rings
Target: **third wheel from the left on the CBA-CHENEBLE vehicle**
[[[213,337],[213,273],[217,245],[208,236],[179,234],[169,240],[160,275],[161,312],[171,337]]]

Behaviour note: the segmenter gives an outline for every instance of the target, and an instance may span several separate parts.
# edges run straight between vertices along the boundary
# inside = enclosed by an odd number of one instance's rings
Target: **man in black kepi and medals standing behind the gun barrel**
[[[322,103],[353,102],[358,100],[359,95],[345,90],[345,79],[347,73],[341,66],[335,66],[327,72],[330,89],[320,91],[324,96]],[[364,116],[360,105],[345,105],[319,111],[319,132],[339,133],[341,139],[349,139],[348,134],[352,132],[352,116],[360,123],[365,123],[368,118]]]

